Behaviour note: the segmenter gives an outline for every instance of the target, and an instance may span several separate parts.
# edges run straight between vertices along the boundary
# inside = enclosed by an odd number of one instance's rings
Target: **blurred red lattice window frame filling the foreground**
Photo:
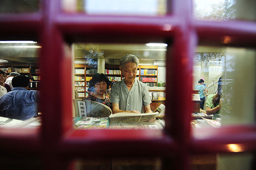
[[[160,156],[175,159],[171,166],[189,169],[189,154],[230,153],[228,144],[239,144],[243,152],[256,150],[256,126],[239,125],[195,130],[192,111],[192,57],[198,44],[255,48],[256,23],[245,21],[197,21],[190,0],[168,1],[164,17],[89,16],[64,14],[61,0],[44,0],[36,14],[1,14],[2,39],[27,40],[38,37],[42,48],[42,127],[38,130],[0,129],[0,151],[39,154],[48,169],[70,169],[74,157]],[[165,29],[169,26],[169,30]],[[225,36],[231,37],[223,44]],[[171,43],[166,54],[166,128],[164,130],[74,130],[72,129],[71,56],[64,42],[157,42]],[[171,49],[172,48],[172,52]],[[179,74],[177,74],[179,73]],[[180,82],[176,86],[173,82]],[[51,85],[49,85],[49,83]],[[177,114],[178,113],[178,114]],[[254,114],[254,113],[252,113]],[[153,150],[158,146],[164,150]],[[99,146],[99,147],[97,147]],[[111,148],[111,149],[110,149]],[[135,151],[134,151],[135,150]],[[81,154],[79,154],[81,153]],[[124,155],[125,153],[125,155]],[[95,155],[98,156],[98,155]],[[164,166],[169,166],[164,162]],[[72,168],[71,168],[72,169]]]

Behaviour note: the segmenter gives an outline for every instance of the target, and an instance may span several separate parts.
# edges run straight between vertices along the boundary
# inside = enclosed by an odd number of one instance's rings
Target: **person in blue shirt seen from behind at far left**
[[[13,77],[12,86],[12,91],[0,97],[0,116],[19,120],[38,116],[39,91],[27,90],[29,78]]]

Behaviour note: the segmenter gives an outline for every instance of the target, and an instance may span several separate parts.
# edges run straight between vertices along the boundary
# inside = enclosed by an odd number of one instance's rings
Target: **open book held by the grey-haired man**
[[[109,116],[110,122],[113,123],[122,123],[122,122],[147,122],[150,119],[158,116],[158,112],[154,113],[129,113],[129,112],[120,112],[115,113]]]

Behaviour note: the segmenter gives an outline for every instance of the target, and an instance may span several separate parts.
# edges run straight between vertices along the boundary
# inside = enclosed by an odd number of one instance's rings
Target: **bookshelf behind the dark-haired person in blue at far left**
[[[26,63],[1,63],[0,69],[6,72],[7,77],[11,72],[20,73],[20,75],[30,76],[35,79],[35,81],[29,83],[29,90],[38,90],[41,76],[40,76],[40,69],[38,65],[35,64],[26,64]]]

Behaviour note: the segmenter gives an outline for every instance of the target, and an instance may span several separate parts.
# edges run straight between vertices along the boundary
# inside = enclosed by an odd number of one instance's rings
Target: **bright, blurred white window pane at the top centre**
[[[163,16],[166,0],[62,0],[66,12],[103,15]]]

